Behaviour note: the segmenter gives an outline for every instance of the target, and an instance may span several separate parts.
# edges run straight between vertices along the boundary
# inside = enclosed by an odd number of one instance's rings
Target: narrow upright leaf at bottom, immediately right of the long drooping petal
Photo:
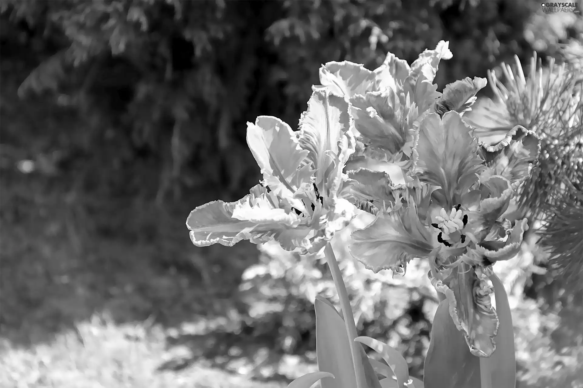
[[[512,313],[504,284],[498,276],[490,276],[496,296],[496,312],[498,314],[498,334],[494,337],[496,350],[483,363],[492,373],[492,386],[496,388],[516,387],[516,353],[514,350],[514,328],[512,328]]]

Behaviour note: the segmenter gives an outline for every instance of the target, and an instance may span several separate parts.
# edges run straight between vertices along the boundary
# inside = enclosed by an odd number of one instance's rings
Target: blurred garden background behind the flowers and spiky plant
[[[185,227],[191,209],[259,180],[245,123],[296,126],[322,63],[374,69],[387,51],[411,63],[440,40],[454,54],[440,90],[533,51],[543,66],[583,63],[581,13],[546,14],[538,1],[0,7],[2,387],[282,387],[313,371],[312,302],[336,301],[326,266],[269,244],[197,248]],[[581,145],[550,154],[553,178]],[[581,290],[554,269],[559,243],[538,242],[529,210],[521,254],[496,266],[518,386],[583,387]],[[397,347],[422,377],[436,308],[423,263],[373,275],[337,241],[362,335]]]

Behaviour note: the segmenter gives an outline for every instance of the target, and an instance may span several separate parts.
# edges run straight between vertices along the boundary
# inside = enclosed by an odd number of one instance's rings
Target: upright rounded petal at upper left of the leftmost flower
[[[310,167],[301,167],[309,151],[301,149],[296,134],[282,120],[259,116],[255,124],[247,123],[247,144],[265,186],[276,195],[291,197],[301,183],[310,181]]]

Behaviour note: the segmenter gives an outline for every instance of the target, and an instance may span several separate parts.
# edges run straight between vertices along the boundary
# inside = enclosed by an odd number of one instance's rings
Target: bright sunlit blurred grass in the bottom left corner
[[[93,316],[59,333],[50,343],[29,348],[3,339],[0,347],[2,387],[152,387],[279,388],[283,383],[252,381],[244,375],[212,368],[204,362],[181,371],[160,370],[168,358],[188,357],[190,349],[166,348],[160,328],[141,323],[116,325]]]

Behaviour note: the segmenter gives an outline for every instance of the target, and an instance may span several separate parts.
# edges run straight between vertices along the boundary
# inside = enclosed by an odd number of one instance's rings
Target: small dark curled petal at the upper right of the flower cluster
[[[485,78],[465,77],[463,80],[448,84],[443,90],[443,94],[436,102],[435,110],[440,116],[445,112],[456,111],[463,113],[472,110],[472,105],[476,101],[476,93],[487,84]]]

